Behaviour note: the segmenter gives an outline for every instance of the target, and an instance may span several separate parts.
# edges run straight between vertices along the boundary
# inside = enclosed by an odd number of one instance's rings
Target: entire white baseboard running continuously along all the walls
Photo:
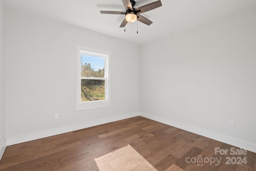
[[[242,141],[240,139],[235,139],[232,137],[228,137],[226,135],[222,135],[222,134],[218,134],[218,133],[214,133],[214,132],[210,132],[204,129],[200,129],[198,127],[193,127],[190,125],[186,125],[183,123],[179,123],[176,121],[172,121],[169,119],[164,119],[162,117],[158,117],[155,115],[150,115],[148,113],[144,113],[144,112],[136,112],[136,113],[128,113],[128,114],[124,114],[124,115],[118,115],[118,116],[114,116],[114,117],[108,117],[108,118],[104,118],[104,119],[100,119],[100,120],[96,120],[96,121],[90,121],[90,122],[86,122],[86,123],[80,123],[77,125],[70,125],[67,127],[60,127],[60,128],[56,128],[56,129],[51,129],[51,130],[46,130],[46,131],[42,131],[42,132],[36,132],[36,133],[31,133],[31,134],[27,134],[27,135],[21,135],[18,137],[12,137],[12,138],[8,138],[6,139],[6,141],[4,142],[4,144],[1,147],[1,151],[0,151],[0,159],[4,153],[4,150],[6,148],[6,146],[8,145],[14,145],[14,144],[18,144],[18,143],[23,143],[26,141],[32,141],[35,139],[40,139],[40,138],[44,138],[44,137],[49,137],[52,135],[58,135],[61,133],[67,133],[70,131],[76,131],[79,129],[84,129],[84,128],[88,128],[88,127],[92,127],[92,126],[96,126],[96,125],[101,125],[104,123],[109,123],[109,122],[114,122],[114,121],[118,121],[118,120],[122,120],[122,119],[127,119],[130,117],[135,117],[135,116],[142,116],[142,117],[146,117],[148,119],[152,119],[154,121],[158,121],[167,125],[171,125],[180,129],[184,129],[186,131],[192,132],[192,133],[196,133],[198,135],[202,135],[204,137],[208,137],[211,139],[215,139],[217,141],[221,141],[223,143],[227,143],[230,145],[234,145],[236,147],[242,148],[242,149],[246,149],[248,151],[252,151],[254,153],[256,153],[256,144],[253,143],[249,143],[246,141]]]

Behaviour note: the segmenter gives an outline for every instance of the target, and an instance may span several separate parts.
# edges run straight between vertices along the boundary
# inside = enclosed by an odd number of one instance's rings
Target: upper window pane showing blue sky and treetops
[[[104,58],[81,54],[81,77],[104,78]]]

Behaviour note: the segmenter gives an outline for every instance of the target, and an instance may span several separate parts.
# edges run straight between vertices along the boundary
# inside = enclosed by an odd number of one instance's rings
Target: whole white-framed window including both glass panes
[[[76,110],[110,106],[110,56],[76,44]]]

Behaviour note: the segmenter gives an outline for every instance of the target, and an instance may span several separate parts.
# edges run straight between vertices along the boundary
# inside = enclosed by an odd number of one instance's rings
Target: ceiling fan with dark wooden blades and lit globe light
[[[152,24],[153,22],[145,18],[144,16],[140,15],[143,12],[147,12],[150,10],[153,10],[155,8],[158,8],[162,6],[162,3],[160,0],[156,2],[152,2],[149,4],[146,4],[144,6],[134,8],[136,2],[134,0],[122,0],[124,3],[124,7],[126,8],[125,12],[120,12],[120,11],[100,11],[101,14],[120,14],[120,15],[125,15],[125,18],[120,25],[120,27],[126,26],[128,22],[135,22],[136,20],[147,24],[148,26]]]

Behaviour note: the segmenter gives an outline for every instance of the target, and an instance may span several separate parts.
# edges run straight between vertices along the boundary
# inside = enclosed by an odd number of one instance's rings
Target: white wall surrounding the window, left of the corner
[[[111,107],[76,111],[75,44],[112,51]],[[134,55],[126,53],[127,47]],[[135,44],[6,8],[5,64],[8,139],[138,115],[139,48]],[[54,118],[56,113],[59,119]]]

